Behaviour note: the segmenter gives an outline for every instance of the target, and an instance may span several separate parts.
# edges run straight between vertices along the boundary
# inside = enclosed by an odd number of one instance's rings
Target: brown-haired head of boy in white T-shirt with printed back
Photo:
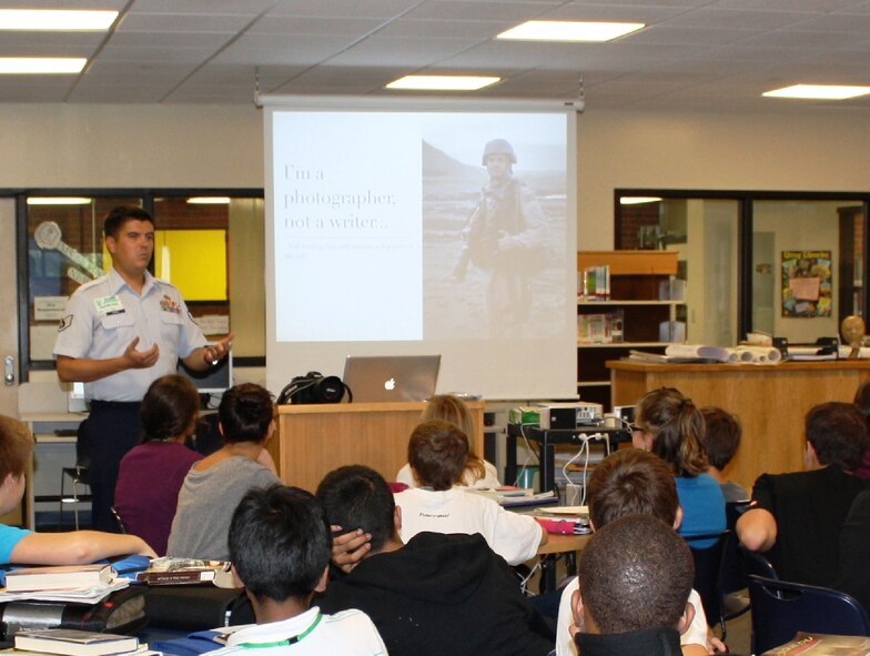
[[[468,462],[468,437],[444,420],[423,422],[408,440],[408,464],[422,486],[449,490],[459,483]]]

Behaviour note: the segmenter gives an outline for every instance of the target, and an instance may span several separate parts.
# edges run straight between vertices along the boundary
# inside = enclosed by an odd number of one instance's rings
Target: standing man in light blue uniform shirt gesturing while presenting
[[[72,294],[54,355],[58,377],[83,382],[91,402],[79,443],[90,456],[93,526],[117,532],[110,508],[118,467],[142,436],[139,408],[149,385],[175,373],[179,359],[194,371],[209,369],[227,354],[233,335],[206,343],[179,290],[148,271],[154,220],[145,210],[115,208],[103,232],[112,269]]]

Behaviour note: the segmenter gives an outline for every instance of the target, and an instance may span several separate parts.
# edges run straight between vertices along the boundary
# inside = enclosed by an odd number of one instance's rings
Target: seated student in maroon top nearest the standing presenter
[[[179,491],[202,456],[184,446],[196,431],[200,394],[184,376],[161,376],[148,388],[139,416],[144,436],[121,461],[114,508],[128,533],[164,555]]]

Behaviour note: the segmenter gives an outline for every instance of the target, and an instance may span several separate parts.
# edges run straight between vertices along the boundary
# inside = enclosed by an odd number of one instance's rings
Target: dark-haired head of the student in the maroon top
[[[200,413],[200,393],[188,379],[178,374],[151,383],[142,400],[139,416],[143,442],[178,437],[190,432]]]

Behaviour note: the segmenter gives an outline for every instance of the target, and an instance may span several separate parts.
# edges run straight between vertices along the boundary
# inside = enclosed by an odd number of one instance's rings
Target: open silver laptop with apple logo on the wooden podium
[[[425,401],[435,393],[441,355],[348,355],[344,384],[355,403]]]

